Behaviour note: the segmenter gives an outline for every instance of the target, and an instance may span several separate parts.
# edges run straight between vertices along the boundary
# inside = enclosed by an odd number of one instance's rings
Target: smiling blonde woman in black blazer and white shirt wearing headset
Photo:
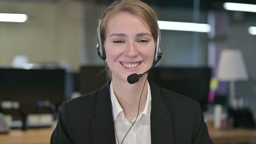
[[[212,144],[196,101],[148,82],[147,73],[128,83],[129,75],[159,60],[151,7],[139,0],[112,3],[99,20],[98,36],[110,85],[64,101],[51,144]]]

